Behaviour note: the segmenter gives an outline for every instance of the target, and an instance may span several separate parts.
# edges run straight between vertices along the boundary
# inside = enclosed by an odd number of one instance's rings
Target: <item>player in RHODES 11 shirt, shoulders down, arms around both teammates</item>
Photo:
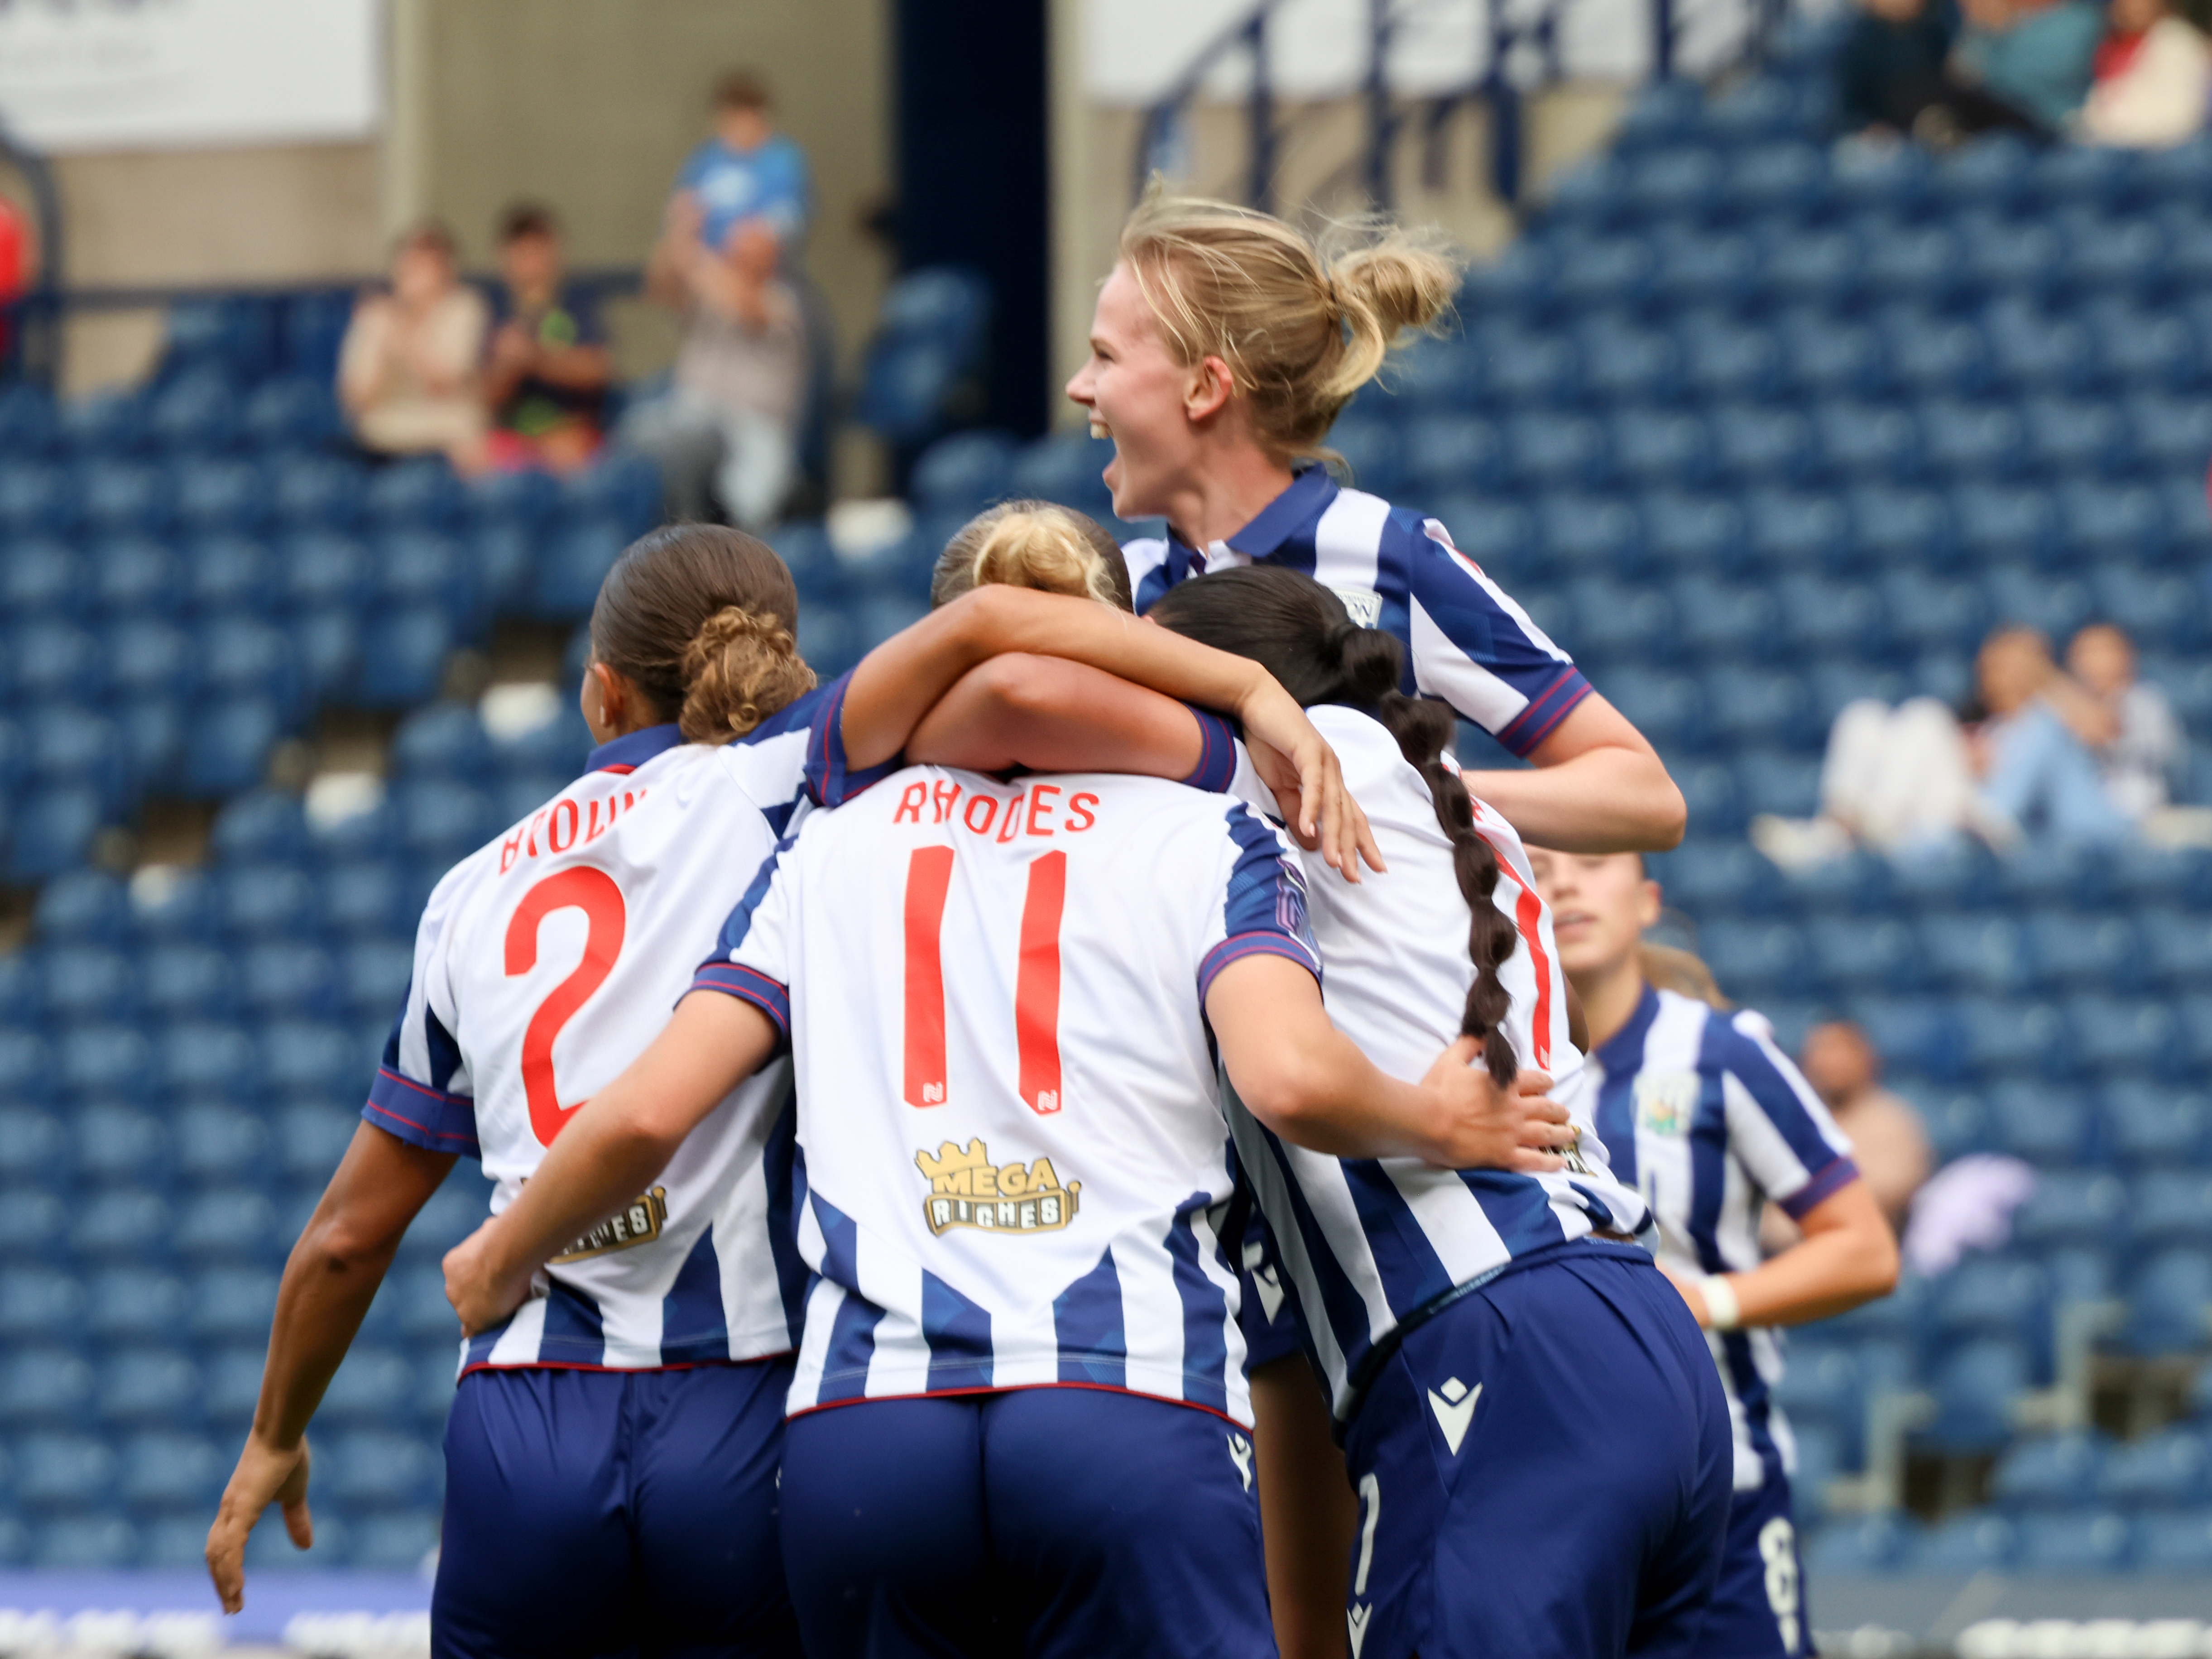
[[[787,1042],[810,1650],[1270,1655],[1217,1055],[1329,1152],[1548,1170],[1571,1135],[1473,1040],[1380,1073],[1316,971],[1303,874],[1243,803],[907,768],[783,843],[666,1033],[449,1256],[456,1307],[504,1318]]]

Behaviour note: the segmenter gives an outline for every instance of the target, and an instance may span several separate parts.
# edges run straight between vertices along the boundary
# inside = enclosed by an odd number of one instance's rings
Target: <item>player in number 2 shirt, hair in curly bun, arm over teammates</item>
[[[916,712],[993,653],[1091,653],[1241,706],[1283,743],[1312,821],[1347,847],[1360,834],[1279,688],[1102,606],[989,588],[821,690],[794,617],[790,573],[737,531],[655,531],[608,573],[582,692],[602,745],[431,896],[365,1121],[288,1263],[257,1425],[208,1540],[232,1610],[268,1504],[312,1542],[305,1427],[407,1223],[462,1152],[498,1181],[493,1208],[513,1199],[577,1104],[661,1029],[801,796],[865,785],[847,739],[880,772]],[[1177,712],[1203,763],[1219,721]],[[622,1214],[564,1241],[513,1321],[471,1332],[447,1436],[440,1652],[599,1652],[641,1630],[796,1641],[772,1526],[803,1281],[787,1091],[770,1068],[726,1095]],[[726,1568],[730,1540],[750,1540],[745,1573]],[[546,1564],[562,1571],[546,1579]]]

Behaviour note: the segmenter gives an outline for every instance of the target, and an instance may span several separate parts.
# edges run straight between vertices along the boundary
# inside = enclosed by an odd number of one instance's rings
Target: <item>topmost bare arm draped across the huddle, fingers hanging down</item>
[[[1294,805],[1287,823],[1298,841],[1318,845],[1349,880],[1358,880],[1360,858],[1383,869],[1367,818],[1343,787],[1336,754],[1265,668],[1095,599],[982,586],[885,639],[860,659],[845,692],[847,761],[854,768],[889,761],[962,675],[1009,650],[1079,661],[1232,714],[1250,739],[1296,768],[1298,790],[1285,807]]]

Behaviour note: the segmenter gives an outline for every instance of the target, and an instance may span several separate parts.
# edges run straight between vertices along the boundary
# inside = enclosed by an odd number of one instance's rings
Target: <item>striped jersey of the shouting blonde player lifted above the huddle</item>
[[[1383,628],[1407,648],[1400,690],[1451,703],[1522,757],[1590,695],[1573,659],[1451,544],[1438,520],[1340,489],[1321,467],[1301,471],[1259,518],[1203,553],[1170,533],[1130,542],[1121,555],[1139,613],[1206,571],[1305,571],[1345,602],[1356,624]]]

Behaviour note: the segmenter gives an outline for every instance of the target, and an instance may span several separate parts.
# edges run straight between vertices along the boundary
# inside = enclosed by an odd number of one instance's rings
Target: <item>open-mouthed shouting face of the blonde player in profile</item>
[[[1093,438],[1113,438],[1106,489],[1121,518],[1164,513],[1197,465],[1188,405],[1203,380],[1170,352],[1128,265],[1115,265],[1091,319],[1091,358],[1068,380],[1068,398],[1091,414]]]

